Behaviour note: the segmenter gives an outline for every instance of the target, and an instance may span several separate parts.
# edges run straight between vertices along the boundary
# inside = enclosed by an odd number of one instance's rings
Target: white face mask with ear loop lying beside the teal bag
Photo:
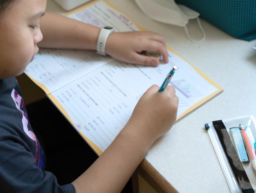
[[[205,39],[206,35],[198,18],[200,14],[193,9],[182,4],[176,4],[174,0],[135,0],[135,2],[149,18],[158,22],[184,27],[188,38],[192,42],[202,42]],[[189,20],[195,18],[198,20],[199,27],[204,35],[202,40],[199,41],[192,40],[186,28]]]

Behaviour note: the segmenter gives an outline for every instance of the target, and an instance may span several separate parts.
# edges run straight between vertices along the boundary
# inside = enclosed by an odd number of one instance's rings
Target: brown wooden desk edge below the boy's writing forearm
[[[149,162],[144,160],[139,164],[136,172],[157,193],[179,193]]]

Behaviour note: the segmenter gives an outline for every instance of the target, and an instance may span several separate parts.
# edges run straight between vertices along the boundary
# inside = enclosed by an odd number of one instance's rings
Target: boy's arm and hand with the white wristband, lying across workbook
[[[65,16],[45,13],[40,22],[43,41],[39,47],[96,50],[100,28]],[[149,31],[116,32],[109,35],[106,53],[122,62],[157,66],[159,60],[141,55],[142,51],[157,51],[168,62],[164,37]]]

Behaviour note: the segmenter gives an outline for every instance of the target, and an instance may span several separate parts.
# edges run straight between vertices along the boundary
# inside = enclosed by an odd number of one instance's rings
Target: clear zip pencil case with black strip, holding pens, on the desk
[[[253,115],[206,123],[231,193],[256,192],[256,119]]]

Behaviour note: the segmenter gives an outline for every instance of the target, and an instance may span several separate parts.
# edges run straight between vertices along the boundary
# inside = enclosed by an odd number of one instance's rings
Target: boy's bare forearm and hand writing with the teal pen
[[[168,86],[154,85],[137,103],[124,129],[103,154],[72,184],[76,193],[120,193],[150,146],[173,126],[178,98]]]

